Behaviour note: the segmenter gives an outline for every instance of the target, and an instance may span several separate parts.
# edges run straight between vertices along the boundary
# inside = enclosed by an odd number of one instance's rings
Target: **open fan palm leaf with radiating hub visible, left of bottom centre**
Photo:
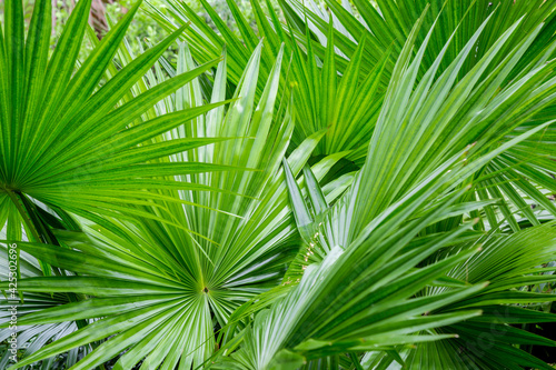
[[[37,258],[79,274],[23,279],[19,281],[20,290],[91,296],[81,302],[22,317],[21,324],[103,319],[44,347],[18,366],[115,336],[73,369],[90,369],[126,350],[115,369],[131,369],[140,361],[145,369],[197,367],[212,354],[215,326],[226,326],[237,307],[279,283],[285,267],[298,250],[280,169],[292,122],[289,99],[277,100],[280,59],[262,99],[257,106],[254,103],[260,50],[254,53],[228,110],[218,108],[156,139],[180,142],[191,137],[241,138],[160,159],[161,163],[195,159],[250,169],[178,179],[227,191],[160,189],[159,198],[151,200],[152,207],[137,206],[138,211],[153,217],[133,223],[108,217],[96,219],[97,223],[83,219],[89,237],[58,231],[57,238],[73,250],[19,243]],[[129,53],[122,49],[120,60],[126,59]],[[216,71],[212,104],[224,99],[226,67],[225,54]],[[181,44],[177,72],[189,69],[195,69],[195,63]],[[150,89],[165,83],[161,71],[157,66],[155,72],[148,73]],[[139,82],[133,89],[148,88]],[[280,116],[275,117],[277,103],[282,104],[282,109]],[[147,116],[169,111],[172,111],[170,116],[177,116],[187,111],[181,110],[183,108],[202,107],[200,83],[195,80],[159,102]],[[289,156],[296,173],[322,133],[307,139]],[[322,178],[337,160],[336,156],[317,163],[317,176]]]

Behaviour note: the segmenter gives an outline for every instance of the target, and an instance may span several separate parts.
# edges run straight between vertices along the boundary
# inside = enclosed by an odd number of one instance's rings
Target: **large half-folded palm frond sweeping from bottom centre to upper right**
[[[416,26],[414,29],[414,39],[418,27]],[[480,31],[476,36],[480,34]],[[502,47],[510,34],[512,30],[505,37],[500,38],[495,43],[495,48],[489,53],[486,53],[484,59],[477,64],[477,68],[485,69],[493,59],[492,54],[496,54],[502,50]],[[461,313],[463,316],[459,319],[451,316],[457,316],[463,309],[469,308],[480,309],[485,307],[485,309],[490,310],[492,307],[489,304],[493,301],[485,300],[477,304],[477,307],[473,304],[455,306],[455,301],[450,303],[443,301],[438,302],[435,309],[419,308],[421,298],[423,302],[434,304],[428,300],[434,294],[421,296],[416,290],[411,291],[409,282],[417,280],[413,274],[425,274],[429,268],[438,272],[441,271],[441,268],[433,268],[434,263],[419,266],[425,263],[427,258],[411,260],[413,262],[409,262],[409,260],[405,261],[405,258],[417,258],[417,256],[423,256],[419,253],[428,252],[430,257],[434,254],[438,256],[436,263],[444,263],[447,261],[446,253],[443,254],[439,251],[450,243],[457,246],[463,240],[466,240],[466,238],[467,240],[471,240],[469,241],[471,246],[480,242],[480,233],[468,233],[464,238],[460,227],[450,227],[449,229],[444,227],[440,233],[435,234],[436,238],[427,236],[435,230],[435,228],[431,228],[435,224],[437,229],[435,231],[439,231],[440,224],[449,224],[446,221],[450,218],[456,217],[461,220],[464,213],[476,212],[477,207],[490,207],[492,203],[488,201],[467,203],[466,199],[468,196],[461,196],[464,193],[473,193],[469,191],[474,189],[473,183],[476,181],[480,184],[485,181],[483,179],[489,176],[489,173],[483,173],[485,166],[488,166],[500,153],[514,146],[529,140],[536,132],[550,124],[552,121],[539,124],[533,130],[519,137],[512,138],[512,140],[503,144],[498,143],[494,146],[495,142],[505,139],[507,130],[512,132],[520,122],[513,120],[513,127],[483,133],[483,130],[477,132],[476,127],[465,124],[465,122],[458,120],[457,127],[460,130],[458,133],[461,138],[467,139],[457,141],[460,144],[459,148],[454,144],[444,146],[445,136],[443,136],[443,132],[451,131],[449,128],[450,122],[454,126],[456,124],[456,122],[450,120],[449,112],[453,111],[451,114],[455,116],[456,111],[458,111],[465,117],[463,109],[477,111],[478,109],[477,107],[474,108],[474,103],[483,104],[483,102],[477,102],[471,93],[474,90],[473,86],[477,82],[471,82],[471,77],[480,73],[469,73],[468,78],[461,79],[458,84],[453,87],[459,73],[460,63],[458,61],[466,59],[475,40],[471,39],[469,41],[467,48],[454,61],[454,64],[440,74],[438,81],[433,84],[433,77],[436,74],[443,57],[440,54],[436,63],[425,73],[415,88],[414,83],[416,83],[420,58],[423,58],[427,44],[421,44],[416,57],[410,61],[413,42],[411,39],[407,42],[400,57],[401,59],[398,60],[395,69],[396,78],[390,83],[386,102],[383,106],[377,127],[373,133],[367,161],[363,170],[356,176],[354,183],[344,196],[344,199],[329,209],[326,199],[318,188],[318,183],[315,182],[310,170],[307,169],[304,174],[308,184],[307,193],[310,201],[306,203],[295,181],[295,177],[291,173],[288,176],[287,181],[296,214],[296,222],[300,234],[305,237],[307,248],[299,257],[305,259],[305,263],[308,267],[305,266],[301,271],[299,269],[297,271],[298,274],[302,274],[299,286],[289,290],[286,296],[282,292],[277,292],[277,297],[274,300],[266,300],[270,304],[269,311],[260,311],[255,318],[252,329],[251,327],[244,329],[245,332],[239,340],[245,341],[245,346],[231,354],[231,359],[222,360],[224,367],[234,364],[242,369],[286,368],[286,364],[277,364],[276,362],[286,361],[285,363],[290,363],[290,366],[297,368],[307,360],[326,357],[335,353],[335,351],[337,353],[346,351],[360,352],[365,350],[393,351],[395,349],[388,347],[388,339],[390,337],[387,334],[387,330],[389,328],[393,328],[390,330],[394,333],[399,333],[396,330],[401,330],[404,336],[413,334],[414,338],[407,339],[407,341],[403,338],[394,339],[399,344],[417,343],[421,340],[435,340],[438,338],[427,336],[427,333],[457,333],[456,328],[463,333],[466,333],[466,330],[467,332],[473,332],[473,330],[475,330],[475,333],[480,332],[480,329],[476,327],[471,330],[474,328],[473,323],[467,324],[467,321],[465,321],[464,323],[448,323],[446,329],[438,329],[437,331],[433,331],[434,327],[425,326],[423,327],[424,333],[416,336],[421,330],[418,324],[411,326],[413,320],[420,323],[421,320],[427,321],[430,318],[433,326],[444,326],[444,316],[433,318],[434,313],[447,314],[446,318],[448,321],[451,319],[456,321],[473,320],[470,317],[465,317],[464,313]],[[518,58],[515,59],[518,60]],[[534,76],[536,71],[538,70],[533,69],[530,76]],[[496,77],[504,78],[500,74]],[[515,91],[515,93],[519,91],[518,89],[510,88],[508,90]],[[524,91],[524,94],[528,93],[528,91]],[[496,103],[496,99],[493,99],[493,103]],[[504,107],[506,108],[504,113],[499,109],[493,109],[493,111],[502,113],[503,117],[505,114],[512,116],[513,107],[510,104],[505,104]],[[515,108],[517,107],[515,106]],[[539,110],[543,108],[544,106],[538,106]],[[486,110],[488,111],[488,109]],[[490,120],[485,120],[485,124],[486,122],[495,122],[492,124],[503,127],[504,120],[492,118]],[[495,139],[496,136],[498,137]],[[454,140],[453,143],[455,142]],[[466,148],[466,142],[477,143]],[[429,167],[424,167],[421,166],[423,163],[427,163]],[[421,167],[419,171],[415,171],[411,168],[415,166]],[[411,174],[414,176],[413,179]],[[461,190],[454,192],[454,189],[458,188]],[[453,204],[445,203],[447,199],[451,199],[450,203]],[[441,212],[445,213],[436,213],[437,211],[435,210],[438,209],[441,209]],[[413,228],[417,228],[417,226],[419,230],[414,230]],[[553,228],[552,226],[547,227]],[[315,230],[317,232],[312,234]],[[492,232],[494,234],[496,234],[496,228],[493,228]],[[342,236],[341,240],[338,238],[340,234]],[[414,239],[415,236],[421,236],[423,239]],[[517,239],[519,237],[516,234],[509,238]],[[444,240],[443,246],[436,244],[435,247],[434,243],[439,242],[439,240]],[[384,244],[381,244],[383,242]],[[510,241],[503,242],[500,246],[506,247],[509,253]],[[539,261],[554,259],[554,254],[550,252],[554,246],[553,237],[548,237],[545,239],[545,243],[540,243],[539,246],[548,249],[546,254],[534,254],[538,260],[529,261],[525,257],[518,259],[527,269],[539,264]],[[342,252],[344,249],[346,250],[345,252]],[[458,249],[456,253],[449,256],[457,258],[463,257],[466,252],[470,252],[470,249]],[[341,256],[338,257],[339,254]],[[337,261],[331,262],[336,259]],[[473,260],[474,258],[470,257],[470,259]],[[310,264],[311,261],[308,260],[320,262],[320,270],[317,270],[318,268]],[[496,256],[493,259],[481,259],[481,262],[496,270],[496,261],[502,262],[505,260],[503,256]],[[294,269],[302,263],[298,258],[297,264],[294,264]],[[455,262],[455,266],[458,264],[465,266],[464,260]],[[357,268],[358,266],[361,266],[361,268]],[[391,266],[391,268],[388,268],[388,266]],[[405,268],[408,270],[405,271]],[[450,269],[453,268],[448,268],[448,270]],[[467,271],[465,267],[461,271],[464,270]],[[390,271],[393,276],[388,277]],[[439,287],[433,284],[433,281],[436,279],[438,281],[445,280],[443,272],[431,278],[430,281],[424,282],[424,284],[430,286],[427,290],[438,292],[449,292],[454,289],[451,293],[446,293],[444,297],[446,299],[455,298],[461,292],[460,289],[468,287],[469,281],[464,280],[460,274],[446,272],[453,282],[463,281],[459,287],[443,287],[441,282],[437,282]],[[533,279],[533,282],[528,282],[526,278],[523,278],[523,270],[512,270],[512,273],[515,273],[516,286],[552,281],[549,276],[540,276],[538,279]],[[517,277],[520,277],[520,279]],[[488,277],[484,278],[477,278],[471,283],[487,281]],[[289,282],[285,281],[285,283]],[[377,283],[378,286],[375,287],[373,283]],[[503,287],[500,290],[504,290],[504,293],[500,292],[499,297],[513,297],[510,289],[516,286]],[[476,287],[476,290],[464,294],[469,301],[473,301],[475,297],[486,294],[488,289],[493,289],[485,288],[486,286],[474,287]],[[408,296],[404,297],[400,294],[405,291],[405,288],[409,289],[409,291]],[[384,293],[381,289],[385,290]],[[415,287],[415,289],[418,288]],[[369,301],[366,301],[366,299]],[[380,299],[384,299],[384,301],[380,301]],[[396,303],[395,299],[400,299],[400,302]],[[553,296],[542,296],[538,299],[549,301],[553,299]],[[464,298],[461,300],[465,301]],[[335,302],[337,302],[336,306],[334,304]],[[530,297],[524,297],[519,302],[530,302]],[[446,311],[440,309],[441,307],[446,308]],[[449,309],[451,307],[454,308]],[[397,319],[399,320],[393,320],[390,327],[386,323],[389,322],[387,319],[395,314],[395,312],[398,312],[398,308],[400,317]],[[380,312],[380,309],[384,309],[385,312]],[[410,318],[411,309],[418,311],[418,317],[415,319]],[[406,312],[405,314],[407,316],[404,316],[401,312]],[[519,312],[513,314],[513,317],[518,316]],[[248,316],[244,316],[242,318],[246,320]],[[383,319],[386,322],[380,324],[378,320]],[[536,319],[539,318],[537,317]],[[544,316],[543,319],[552,321],[553,316]],[[476,320],[480,322],[483,318]],[[512,319],[508,322],[513,322]],[[366,327],[366,323],[373,324]],[[408,326],[415,329],[415,331],[410,332],[409,329],[404,331],[401,329],[405,328],[404,326]],[[379,330],[377,332],[377,328],[385,330],[384,337],[380,337],[381,332]],[[426,337],[423,338],[423,334]],[[373,336],[377,336],[376,342],[374,342]],[[533,339],[527,341],[525,336],[523,343],[552,343],[548,340],[529,338]],[[236,347],[237,340],[231,340],[229,346]],[[427,347],[424,346],[423,348]],[[512,347],[509,346],[508,348]],[[296,351],[297,354],[291,353],[291,351]],[[526,353],[522,354],[522,357],[524,356],[526,359],[523,361],[516,360],[516,366],[542,363],[542,361],[535,360]],[[391,362],[393,357],[387,354],[387,358]],[[443,361],[448,361],[448,359],[443,359]],[[415,367],[415,364],[413,366]],[[420,368],[417,366],[415,369]]]

